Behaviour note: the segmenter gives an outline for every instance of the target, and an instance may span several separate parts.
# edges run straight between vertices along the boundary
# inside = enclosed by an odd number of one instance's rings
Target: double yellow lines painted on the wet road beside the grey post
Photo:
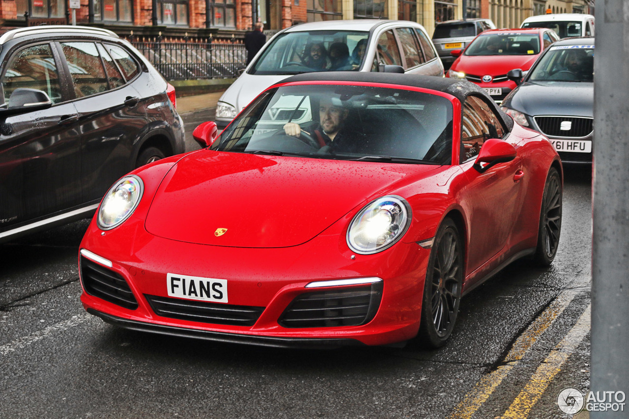
[[[569,306],[579,293],[574,290],[564,291],[539,315],[533,323],[525,330],[509,350],[504,359],[504,365],[499,366],[491,373],[484,376],[470,393],[455,408],[450,419],[466,419],[472,418],[479,408],[489,399],[492,393],[502,383],[503,379],[508,376],[509,372],[517,366],[523,359],[526,352],[537,342],[538,338],[544,333],[555,319]],[[538,367],[537,371],[525,388],[511,403],[508,410],[502,416],[503,419],[523,419],[528,416],[533,405],[542,396],[548,384],[555,375],[560,371],[564,362],[576,350],[583,338],[589,332],[590,325],[590,307],[588,306],[584,313],[577,320],[576,325],[548,355],[544,362]]]

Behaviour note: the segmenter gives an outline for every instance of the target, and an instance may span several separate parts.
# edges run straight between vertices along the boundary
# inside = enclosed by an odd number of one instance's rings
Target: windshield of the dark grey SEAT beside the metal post
[[[550,47],[528,81],[594,81],[594,45]]]

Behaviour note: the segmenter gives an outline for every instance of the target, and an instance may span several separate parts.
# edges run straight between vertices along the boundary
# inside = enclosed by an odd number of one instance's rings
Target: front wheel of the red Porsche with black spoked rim
[[[459,315],[463,285],[463,243],[450,218],[437,230],[428,260],[421,303],[419,344],[445,345]]]

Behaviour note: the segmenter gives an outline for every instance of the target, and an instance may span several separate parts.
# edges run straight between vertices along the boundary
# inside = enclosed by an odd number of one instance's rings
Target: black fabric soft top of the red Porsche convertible
[[[445,77],[437,77],[434,75],[418,75],[418,74],[399,74],[399,73],[380,73],[380,72],[311,72],[293,75],[288,79],[284,79],[281,83],[287,82],[308,82],[308,81],[339,81],[339,82],[364,82],[364,83],[386,83],[399,84],[400,86],[423,87],[424,89],[436,90],[451,94],[459,99],[461,103],[470,94],[482,96],[486,98],[487,103],[494,111],[501,116],[504,125],[511,131],[513,128],[513,120],[506,115],[496,105],[494,100],[481,87],[465,80],[447,79]]]

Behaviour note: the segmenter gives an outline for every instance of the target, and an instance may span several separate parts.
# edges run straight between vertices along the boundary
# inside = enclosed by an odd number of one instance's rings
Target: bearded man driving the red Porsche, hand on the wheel
[[[349,109],[333,104],[331,98],[321,98],[319,103],[319,123],[315,126],[312,137],[321,147],[329,147],[330,152],[355,153],[360,145],[361,135],[345,127]],[[302,128],[289,122],[284,125],[284,132],[291,137],[300,137]],[[304,132],[308,133],[308,131]],[[310,133],[308,133],[310,134]]]

